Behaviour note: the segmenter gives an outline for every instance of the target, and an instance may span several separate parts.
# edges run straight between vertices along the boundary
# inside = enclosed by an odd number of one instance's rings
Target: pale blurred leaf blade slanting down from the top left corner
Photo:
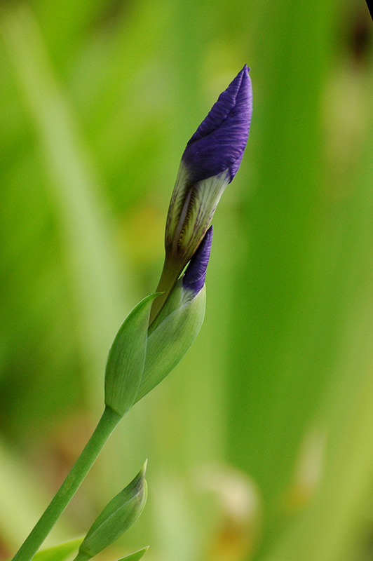
[[[76,295],[86,386],[96,402],[101,393],[98,374],[123,318],[123,289],[128,292],[129,283],[126,287],[126,279],[118,271],[112,224],[95,166],[67,95],[53,76],[32,11],[25,4],[3,6],[1,32],[50,175]]]

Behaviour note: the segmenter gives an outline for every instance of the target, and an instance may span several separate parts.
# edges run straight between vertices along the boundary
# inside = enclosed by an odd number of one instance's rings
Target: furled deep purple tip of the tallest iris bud
[[[182,160],[192,181],[204,180],[226,169],[230,181],[233,180],[246,147],[251,114],[252,86],[245,65],[186,144]]]

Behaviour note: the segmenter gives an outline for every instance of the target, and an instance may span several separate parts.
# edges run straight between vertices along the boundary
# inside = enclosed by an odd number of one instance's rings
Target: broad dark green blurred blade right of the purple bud
[[[254,109],[245,158],[254,181],[244,187],[251,196],[242,195],[246,248],[235,259],[227,379],[230,457],[259,484],[264,540],[275,539],[283,521],[283,493],[324,384],[308,372],[320,315],[313,259],[333,8],[318,0],[252,9]]]

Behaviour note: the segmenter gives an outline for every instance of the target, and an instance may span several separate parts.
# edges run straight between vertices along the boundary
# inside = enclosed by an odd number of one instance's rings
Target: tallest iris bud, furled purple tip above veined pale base
[[[186,144],[165,228],[165,264],[157,289],[164,294],[154,302],[151,322],[196,252],[226,185],[237,173],[251,114],[252,87],[245,65]]]

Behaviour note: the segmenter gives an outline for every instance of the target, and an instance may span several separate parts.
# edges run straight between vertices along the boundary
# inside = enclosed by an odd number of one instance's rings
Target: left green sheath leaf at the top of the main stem
[[[119,327],[105,374],[105,405],[123,416],[135,402],[147,352],[147,330],[151,304],[158,293],[135,306]]]

